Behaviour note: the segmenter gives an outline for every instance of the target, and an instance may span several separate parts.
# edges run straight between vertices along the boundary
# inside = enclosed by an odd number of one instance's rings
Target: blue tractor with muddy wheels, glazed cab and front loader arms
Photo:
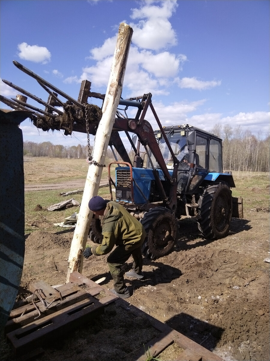
[[[196,219],[203,238],[227,236],[231,218],[243,218],[243,203],[242,198],[232,197],[233,176],[222,169],[222,140],[188,124],[162,127],[151,94],[145,94],[140,104],[135,118],[115,120],[111,145],[124,161],[112,162],[108,175],[111,200],[113,185],[116,201],[138,218],[147,232],[143,255],[156,259],[170,253],[179,239],[182,216]],[[156,131],[144,119],[148,106],[159,126]],[[135,153],[133,161],[119,142],[113,141],[119,131],[133,132],[138,141],[135,147],[128,137]],[[140,152],[141,146],[144,152]],[[115,177],[111,176],[113,164],[117,164]],[[93,219],[90,238],[102,241],[99,219]]]

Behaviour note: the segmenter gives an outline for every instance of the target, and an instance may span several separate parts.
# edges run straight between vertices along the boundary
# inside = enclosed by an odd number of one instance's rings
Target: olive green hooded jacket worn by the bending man
[[[103,241],[91,248],[96,256],[111,252],[114,245],[125,245],[126,249],[141,245],[145,239],[145,230],[138,219],[119,203],[108,202],[101,218]]]

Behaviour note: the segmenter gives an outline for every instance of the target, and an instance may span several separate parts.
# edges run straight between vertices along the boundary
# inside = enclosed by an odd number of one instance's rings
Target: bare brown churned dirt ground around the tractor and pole
[[[192,219],[183,217],[179,224],[181,238],[174,251],[156,261],[144,259],[144,280],[126,278],[132,291],[127,301],[224,360],[270,360],[269,263],[264,261],[270,257],[269,212],[248,210],[244,219],[233,218],[226,238],[214,241],[202,239]],[[37,280],[50,285],[66,283],[73,231],[59,227],[58,232],[50,233],[46,223],[42,223],[42,228],[26,235],[18,301],[30,295],[29,284]],[[92,256],[84,260],[82,273],[93,280],[106,277],[102,286],[109,289],[113,282],[106,258]],[[126,270],[131,268],[131,261],[127,262]],[[112,313],[116,311],[109,307],[104,316],[107,326]],[[95,342],[95,334],[104,332],[100,326],[104,326],[104,319],[99,319],[98,325],[92,326],[92,331],[87,330],[87,337],[89,332],[93,336],[90,343]],[[121,327],[123,335],[127,335],[129,322]],[[114,346],[108,346],[109,354],[104,346],[98,358],[84,356],[81,353],[86,342],[83,335],[83,331],[75,332],[71,337],[77,345],[73,356],[72,346],[59,349],[54,345],[50,350],[58,358],[46,353],[40,360],[122,359],[113,353]],[[104,344],[104,334],[100,335],[99,340]]]

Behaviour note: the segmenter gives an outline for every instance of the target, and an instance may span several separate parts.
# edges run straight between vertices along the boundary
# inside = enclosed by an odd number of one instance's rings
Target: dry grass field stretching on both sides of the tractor
[[[24,158],[24,182],[25,184],[44,184],[86,179],[89,165],[84,159],[63,159],[47,157],[25,157]],[[107,179],[108,169],[102,172],[102,179]],[[257,172],[235,172],[233,173],[236,188],[233,188],[233,196],[243,198],[244,212],[252,208],[269,208],[269,173]],[[33,222],[47,222],[50,230],[58,229],[53,223],[60,223],[64,218],[79,212],[79,207],[65,210],[51,211],[34,210],[39,204],[43,209],[63,200],[74,198],[79,203],[82,194],[71,196],[60,196],[57,191],[29,191],[25,192],[25,231],[26,233],[36,229],[31,226]],[[109,199],[109,188],[100,188],[100,196]]]

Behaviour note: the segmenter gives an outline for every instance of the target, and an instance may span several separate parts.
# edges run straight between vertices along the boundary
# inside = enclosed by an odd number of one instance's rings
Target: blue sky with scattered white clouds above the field
[[[164,126],[188,123],[210,131],[217,123],[241,125],[264,138],[270,120],[269,10],[268,0],[1,0],[0,77],[48,99],[13,65],[16,60],[74,99],[84,79],[92,82],[91,91],[105,93],[125,22],[133,36],[124,98],[151,92]],[[10,98],[18,92],[1,82],[0,93]],[[30,98],[28,103],[44,109]],[[146,118],[156,129],[150,110]],[[43,132],[29,119],[20,127],[24,140],[87,144],[85,134]]]

